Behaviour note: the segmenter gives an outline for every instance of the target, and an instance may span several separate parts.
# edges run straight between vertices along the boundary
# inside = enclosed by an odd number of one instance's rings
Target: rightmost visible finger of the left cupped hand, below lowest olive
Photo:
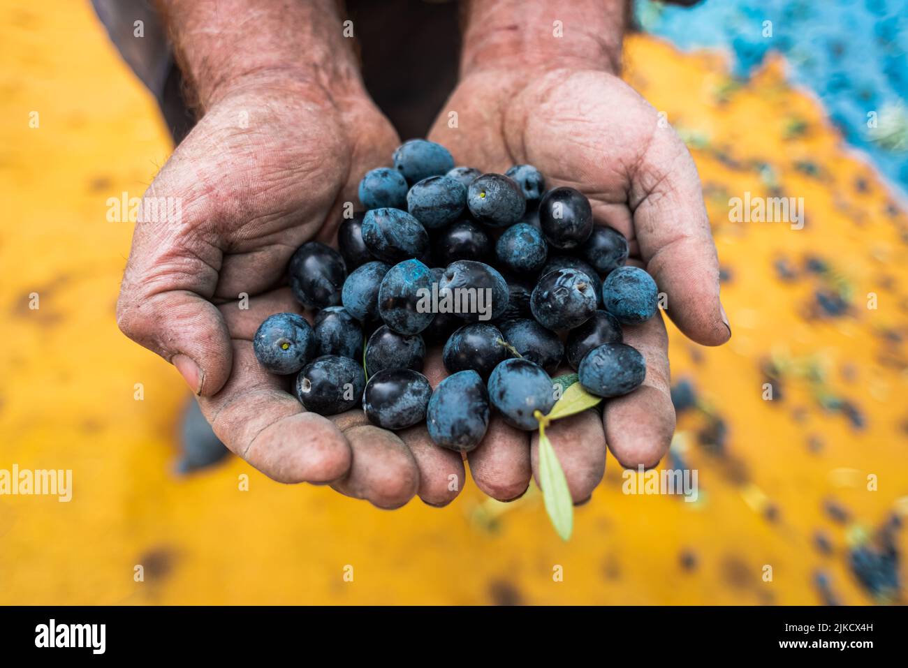
[[[463,457],[432,442],[425,425],[417,425],[398,432],[419,469],[417,494],[429,506],[447,506],[460,493],[466,480]]]

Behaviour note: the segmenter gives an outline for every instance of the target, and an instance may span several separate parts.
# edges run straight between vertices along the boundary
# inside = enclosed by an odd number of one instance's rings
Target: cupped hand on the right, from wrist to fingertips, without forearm
[[[656,279],[667,315],[687,337],[708,346],[731,337],[693,159],[656,110],[616,76],[585,69],[479,70],[459,83],[429,138],[447,146],[459,165],[505,172],[528,163],[545,175],[548,188],[583,192],[597,223],[627,237],[629,262]],[[624,467],[655,467],[675,429],[661,314],[625,327],[624,334],[646,358],[643,385],[607,400],[601,420],[591,410],[547,430],[575,503],[587,500],[601,480],[606,444]],[[537,474],[537,438],[497,419],[469,463],[480,487],[508,498]]]

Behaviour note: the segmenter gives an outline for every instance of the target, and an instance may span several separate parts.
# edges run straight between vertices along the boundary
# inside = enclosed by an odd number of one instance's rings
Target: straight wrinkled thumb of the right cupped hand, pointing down
[[[630,205],[641,258],[668,296],[666,312],[706,346],[731,338],[719,263],[696,165],[670,129],[657,129],[633,175]]]

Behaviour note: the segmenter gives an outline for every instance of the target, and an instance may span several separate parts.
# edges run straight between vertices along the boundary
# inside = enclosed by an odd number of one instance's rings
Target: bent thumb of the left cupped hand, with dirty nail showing
[[[145,205],[153,192],[154,185],[143,197],[142,211],[153,211]],[[179,206],[165,211],[177,211],[176,220],[144,216],[136,222],[117,301],[117,325],[171,362],[195,394],[208,397],[223,387],[232,367],[230,334],[210,301],[222,252],[191,223],[205,217],[180,213]]]

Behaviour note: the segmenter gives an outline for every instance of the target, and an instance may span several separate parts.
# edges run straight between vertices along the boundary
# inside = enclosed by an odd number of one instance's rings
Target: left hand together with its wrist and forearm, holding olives
[[[218,437],[266,475],[331,483],[380,507],[417,490],[429,503],[452,498],[448,476],[459,488],[463,463],[431,446],[425,427],[407,447],[361,410],[306,413],[290,379],[252,353],[263,319],[301,312],[281,287],[292,252],[333,240],[341,202],[356,201],[362,174],[400,143],[363,89],[337,3],[158,2],[204,115],[146,192],[179,198],[182,219],[136,225],[121,329],[173,362]]]

